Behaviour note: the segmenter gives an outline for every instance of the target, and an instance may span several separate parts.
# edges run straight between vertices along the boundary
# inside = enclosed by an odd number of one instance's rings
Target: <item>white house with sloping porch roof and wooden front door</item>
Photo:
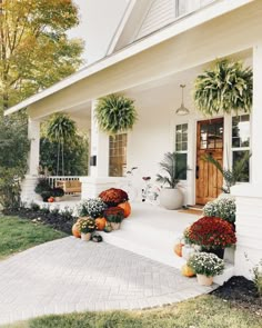
[[[261,0],[130,0],[104,58],[7,110],[11,115],[27,107],[30,117],[23,199],[34,197],[40,122],[53,112],[68,112],[90,131],[97,165],[89,177],[81,178],[82,197],[112,186],[118,178],[110,176],[115,170],[122,176],[123,167],[135,166],[141,177],[154,177],[163,153],[175,150],[191,168],[182,182],[185,203],[205,203],[218,196],[221,181],[201,155],[212,152],[231,167],[243,151],[251,151],[249,178],[232,190],[238,207],[235,272],[250,277],[244,254],[253,264],[262,257],[261,17]],[[206,118],[194,109],[195,77],[218,58],[241,59],[253,68],[251,115]],[[180,85],[185,85],[187,116],[175,113],[181,105]],[[117,137],[117,162],[109,137],[98,130],[93,117],[95,99],[113,92],[133,98],[139,112],[134,129]],[[239,136],[232,133],[235,128]]]

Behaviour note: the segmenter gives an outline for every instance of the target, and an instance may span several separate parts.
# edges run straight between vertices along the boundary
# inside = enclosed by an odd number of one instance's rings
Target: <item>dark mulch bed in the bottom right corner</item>
[[[254,282],[244,277],[232,277],[212,294],[224,301],[230,301],[234,307],[249,309],[262,316],[262,297],[259,296]]]

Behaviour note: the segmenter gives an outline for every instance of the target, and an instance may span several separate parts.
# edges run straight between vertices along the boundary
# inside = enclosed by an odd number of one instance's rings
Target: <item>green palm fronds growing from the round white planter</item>
[[[164,159],[159,165],[165,172],[165,176],[157,175],[157,181],[169,185],[170,188],[175,188],[180,181],[180,177],[183,177],[184,172],[189,170],[189,168],[180,165],[179,155],[174,151],[165,152]]]

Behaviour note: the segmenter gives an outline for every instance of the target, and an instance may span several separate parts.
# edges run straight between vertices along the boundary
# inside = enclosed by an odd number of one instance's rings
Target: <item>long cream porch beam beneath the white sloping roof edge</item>
[[[56,110],[68,111],[108,93],[139,90],[147,85],[150,87],[151,82],[165,83],[175,74],[179,77],[180,72],[187,80],[189,69],[194,70],[216,58],[252,49],[261,39],[261,16],[262,2],[251,2],[33,103],[29,115],[37,119]],[[181,82],[182,78],[177,85]]]

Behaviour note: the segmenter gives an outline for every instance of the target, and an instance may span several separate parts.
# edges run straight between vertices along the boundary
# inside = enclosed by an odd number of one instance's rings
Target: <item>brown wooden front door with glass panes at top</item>
[[[223,119],[198,122],[196,168],[195,168],[195,202],[205,205],[215,199],[223,186],[221,172],[203,160],[204,155],[212,157],[223,166]]]

